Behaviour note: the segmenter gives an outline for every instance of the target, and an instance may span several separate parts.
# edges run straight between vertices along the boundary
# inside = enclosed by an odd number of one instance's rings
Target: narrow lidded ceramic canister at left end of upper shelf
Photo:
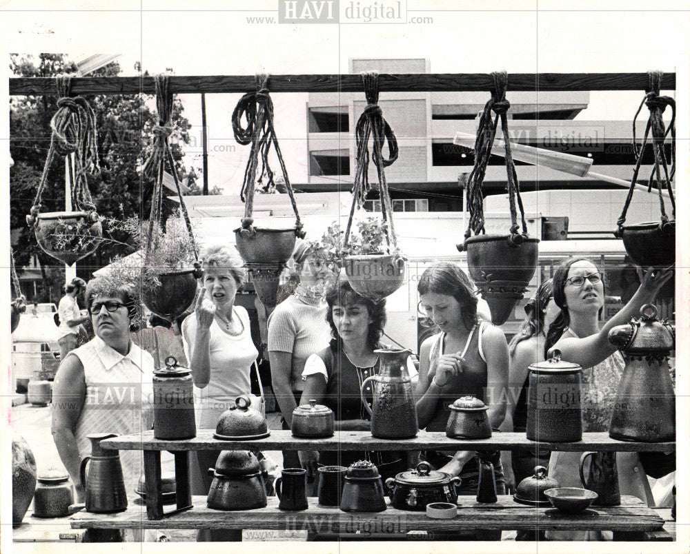
[[[166,367],[153,372],[153,436],[184,440],[197,436],[191,370],[166,358]]]

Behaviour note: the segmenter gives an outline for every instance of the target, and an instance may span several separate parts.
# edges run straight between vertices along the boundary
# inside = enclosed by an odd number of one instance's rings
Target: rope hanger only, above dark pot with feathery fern
[[[170,167],[170,174],[175,181],[175,188],[177,189],[177,198],[179,200],[180,211],[184,218],[184,223],[187,227],[192,251],[195,260],[199,260],[197,254],[197,245],[194,240],[194,233],[192,231],[192,223],[187,213],[187,207],[182,198],[182,191],[179,185],[179,177],[177,176],[177,169],[175,168],[175,160],[172,158],[172,151],[170,150],[170,135],[172,135],[172,108],[173,97],[172,88],[170,88],[170,77],[165,74],[157,75],[155,77],[156,85],[156,110],[158,112],[158,123],[152,128],[153,143],[150,154],[142,172],[149,178],[155,178],[155,185],[153,189],[153,198],[151,201],[151,211],[148,218],[148,237],[146,238],[146,254],[144,256],[144,265],[148,265],[148,257],[155,245],[155,229],[161,228],[161,212],[163,207],[163,176],[165,172],[166,160],[168,167]]]

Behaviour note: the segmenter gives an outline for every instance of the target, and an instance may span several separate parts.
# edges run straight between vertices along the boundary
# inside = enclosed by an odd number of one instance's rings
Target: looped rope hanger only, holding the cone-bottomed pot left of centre
[[[275,154],[280,164],[280,170],[285,180],[285,186],[290,196],[290,203],[293,205],[293,212],[295,212],[295,234],[299,238],[304,238],[303,230],[304,224],[299,219],[299,212],[297,211],[297,201],[295,201],[295,192],[293,186],[290,185],[290,178],[288,178],[288,171],[283,161],[283,154],[278,145],[278,139],[275,135],[275,127],[273,125],[273,100],[268,93],[268,75],[258,74],[255,77],[256,88],[255,92],[247,92],[239,99],[235,110],[233,110],[233,133],[235,140],[246,146],[251,144],[249,153],[249,161],[244,170],[244,181],[242,182],[242,191],[240,198],[244,202],[244,218],[242,218],[241,233],[244,236],[253,236],[256,231],[253,227],[254,219],[252,214],[254,211],[254,194],[255,182],[261,183],[264,175],[266,175],[266,185],[264,190],[266,192],[275,188],[273,182],[273,170],[270,169],[268,163],[268,153],[270,147],[273,145]],[[242,126],[242,116],[247,121],[246,127]],[[261,158],[262,166],[259,178],[256,178],[257,168],[259,166],[259,157]]]

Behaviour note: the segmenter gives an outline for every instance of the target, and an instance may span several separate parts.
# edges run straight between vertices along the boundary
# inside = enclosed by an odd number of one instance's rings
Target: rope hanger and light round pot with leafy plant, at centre
[[[362,115],[359,116],[355,127],[357,164],[352,189],[353,200],[345,229],[343,249],[347,248],[350,240],[355,209],[362,208],[366,195],[372,188],[368,176],[368,143],[371,137],[373,143],[371,158],[376,166],[379,181],[379,198],[381,215],[386,229],[387,252],[346,256],[344,266],[345,274],[352,288],[365,298],[377,301],[390,296],[399,289],[405,276],[406,258],[397,247],[393,227],[393,206],[384,171],[384,167],[388,167],[397,160],[399,150],[395,134],[384,119],[381,107],[378,105],[378,74],[374,72],[362,74],[362,83],[364,84],[366,107]],[[386,143],[388,144],[388,158],[384,158],[383,155],[383,147]]]

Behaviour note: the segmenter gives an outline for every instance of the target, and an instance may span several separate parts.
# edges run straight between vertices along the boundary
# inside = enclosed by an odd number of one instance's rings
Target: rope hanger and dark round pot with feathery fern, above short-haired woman
[[[170,151],[170,135],[172,134],[172,107],[173,95],[170,88],[168,75],[158,75],[155,78],[156,86],[156,109],[158,112],[158,125],[153,127],[153,145],[151,154],[144,165],[144,175],[155,178],[151,211],[148,220],[148,235],[146,236],[146,249],[144,251],[144,285],[141,287],[141,296],[144,304],[154,314],[165,318],[168,321],[175,320],[184,314],[194,301],[197,291],[197,279],[201,278],[201,263],[194,240],[192,223],[189,219],[187,207],[182,197],[179,185],[179,177],[175,169],[175,160]],[[160,271],[151,262],[152,252],[157,249],[157,236],[159,229],[162,229],[161,214],[163,209],[163,180],[166,169],[168,169],[175,181],[177,198],[179,200],[179,210],[184,218],[184,223],[189,235],[191,248],[195,262],[194,267],[183,267],[181,269]],[[155,278],[156,285],[151,281]]]

